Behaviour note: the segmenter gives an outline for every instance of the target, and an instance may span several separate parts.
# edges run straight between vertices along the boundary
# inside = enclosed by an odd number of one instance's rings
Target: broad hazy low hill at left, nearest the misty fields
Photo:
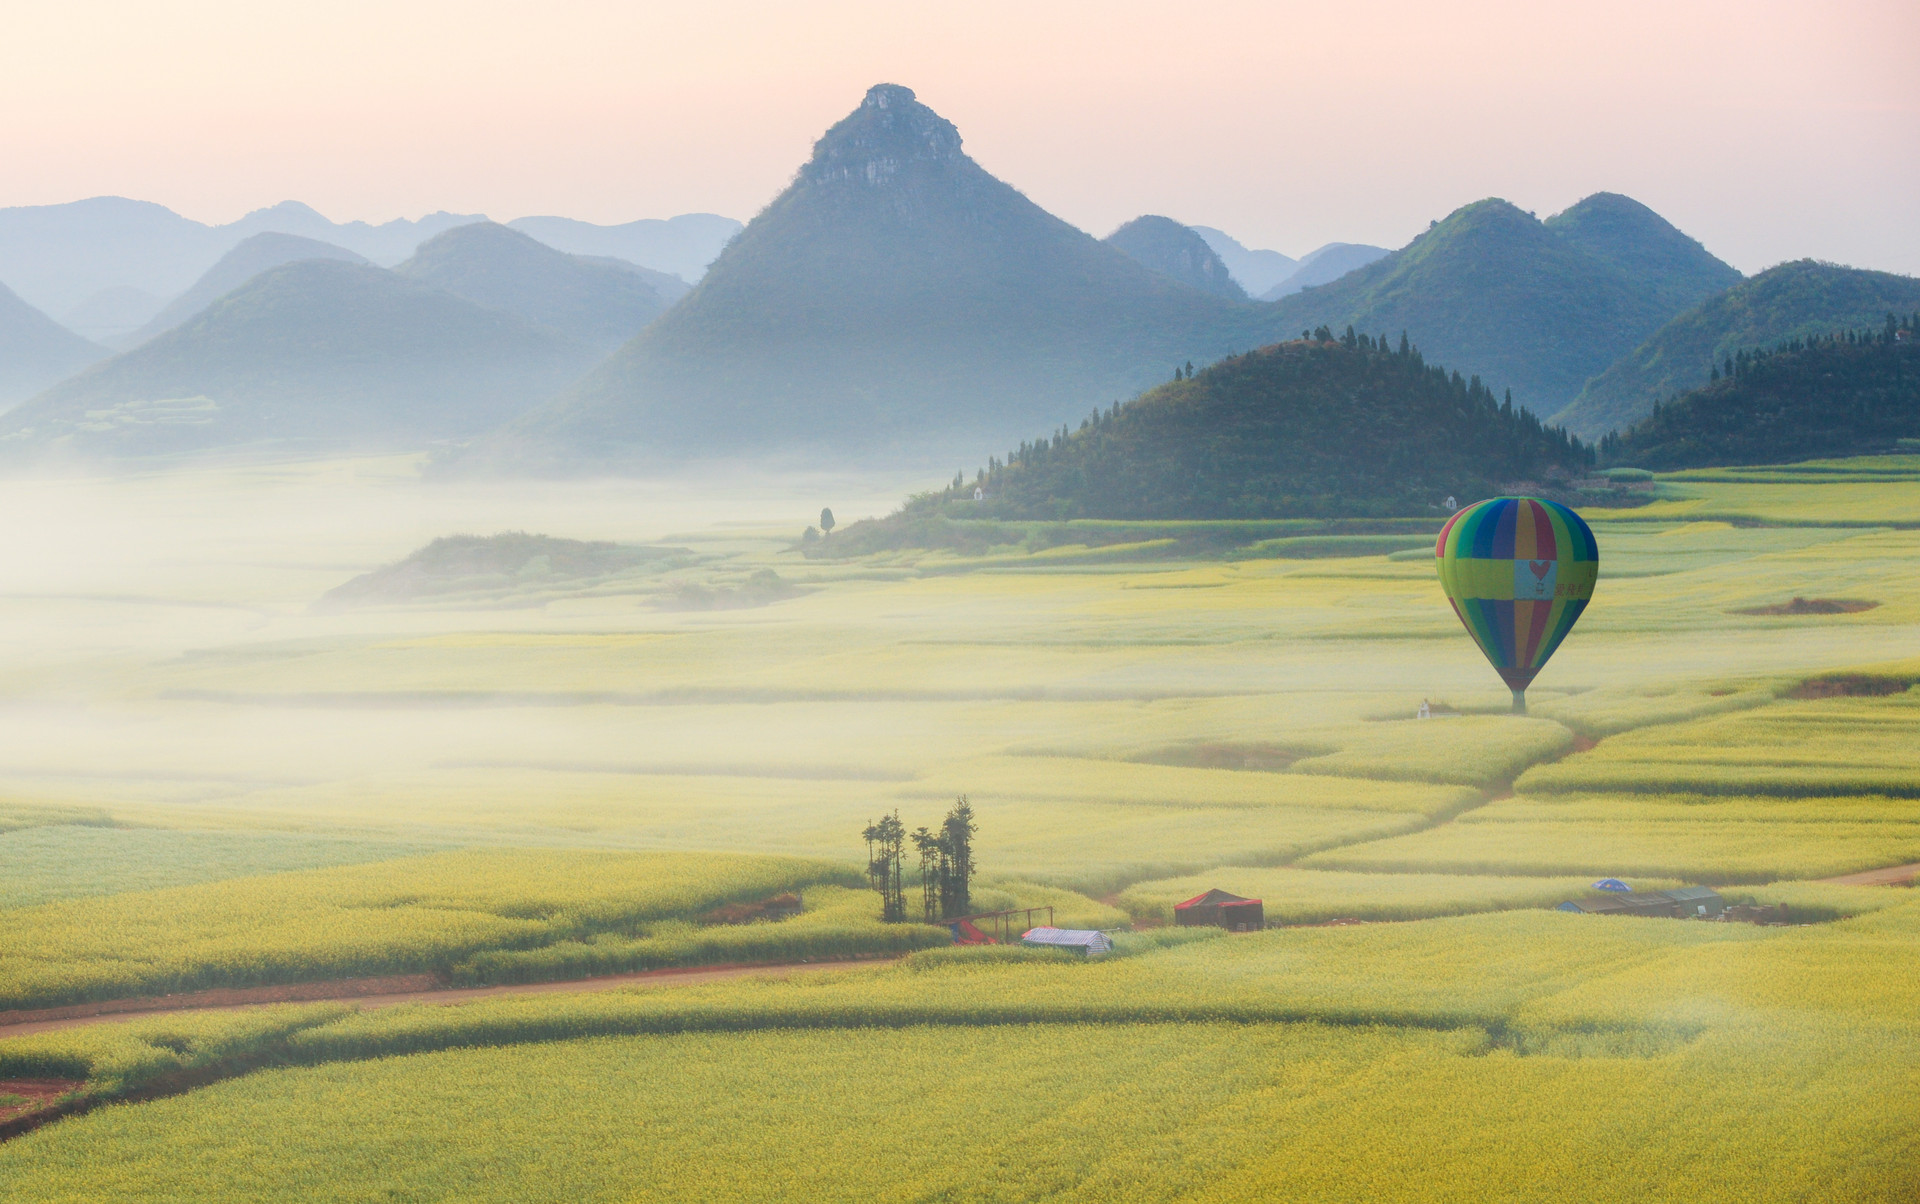
[[[15,457],[417,447],[522,413],[586,344],[378,267],[305,259],[0,415]]]

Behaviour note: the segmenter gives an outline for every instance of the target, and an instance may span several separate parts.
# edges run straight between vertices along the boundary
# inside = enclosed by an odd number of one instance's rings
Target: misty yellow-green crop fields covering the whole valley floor
[[[1590,513],[1599,588],[1524,718],[1404,536],[799,553],[820,505],[925,484],[0,484],[35,518],[0,532],[27,582],[0,593],[0,1010],[910,954],[0,1035],[0,1095],[198,1075],[0,1143],[0,1196],[1920,1191],[1920,897],[1818,881],[1920,862],[1920,457]],[[674,566],[313,605],[495,530]],[[687,609],[764,570],[766,605]],[[1117,956],[879,922],[862,828],[958,795],[973,906],[1052,906]],[[1791,926],[1548,910],[1603,876]],[[1302,927],[1152,927],[1208,887]],[[795,918],[703,922],[789,891]]]

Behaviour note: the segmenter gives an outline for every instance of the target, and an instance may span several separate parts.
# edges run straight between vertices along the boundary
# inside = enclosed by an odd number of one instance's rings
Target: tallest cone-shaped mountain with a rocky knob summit
[[[1052,217],[879,84],[674,309],[484,459],[973,455],[1254,346],[1252,307]]]

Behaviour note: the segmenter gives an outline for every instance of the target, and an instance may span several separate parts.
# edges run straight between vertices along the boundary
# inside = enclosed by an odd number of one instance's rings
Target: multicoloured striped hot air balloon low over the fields
[[[1526,714],[1526,686],[1594,597],[1594,528],[1557,501],[1490,497],[1446,520],[1434,563],[1453,613],[1513,689],[1513,712]]]

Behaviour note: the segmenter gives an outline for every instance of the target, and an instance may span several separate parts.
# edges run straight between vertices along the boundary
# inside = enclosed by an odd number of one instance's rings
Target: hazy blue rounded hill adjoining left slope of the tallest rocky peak
[[[666,309],[641,269],[568,255],[492,221],[420,244],[396,273],[611,351]]]

